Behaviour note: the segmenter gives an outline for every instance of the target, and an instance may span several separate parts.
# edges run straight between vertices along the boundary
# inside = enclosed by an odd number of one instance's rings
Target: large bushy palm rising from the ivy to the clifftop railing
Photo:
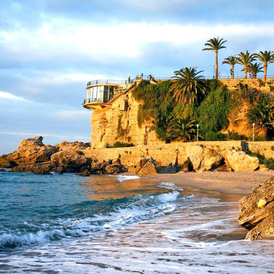
[[[197,67],[184,67],[180,71],[175,71],[172,78],[175,78],[170,91],[174,92],[174,98],[183,105],[195,102],[200,99],[207,87],[207,83],[200,72],[196,71]]]

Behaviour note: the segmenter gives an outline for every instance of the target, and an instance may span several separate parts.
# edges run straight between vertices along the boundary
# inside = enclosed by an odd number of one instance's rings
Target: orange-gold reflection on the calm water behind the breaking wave
[[[119,199],[143,193],[163,193],[166,189],[156,187],[157,182],[151,179],[132,179],[118,181],[119,177],[94,175],[88,177],[82,186],[89,200]]]

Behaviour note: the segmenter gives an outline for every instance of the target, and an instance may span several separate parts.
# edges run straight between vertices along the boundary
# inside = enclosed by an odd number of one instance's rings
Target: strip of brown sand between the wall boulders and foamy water
[[[174,182],[185,192],[199,192],[224,201],[238,201],[258,184],[274,176],[273,172],[203,172],[159,174],[153,180]]]

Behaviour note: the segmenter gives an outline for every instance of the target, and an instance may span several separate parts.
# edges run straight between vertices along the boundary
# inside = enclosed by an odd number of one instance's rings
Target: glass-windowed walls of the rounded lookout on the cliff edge
[[[87,88],[87,102],[108,102],[113,97],[113,86],[91,86]]]

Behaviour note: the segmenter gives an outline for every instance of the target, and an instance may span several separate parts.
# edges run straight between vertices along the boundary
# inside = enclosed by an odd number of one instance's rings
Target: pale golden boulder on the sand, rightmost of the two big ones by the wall
[[[227,154],[226,159],[234,172],[254,171],[260,166],[257,157],[249,156],[244,151],[232,150]]]

